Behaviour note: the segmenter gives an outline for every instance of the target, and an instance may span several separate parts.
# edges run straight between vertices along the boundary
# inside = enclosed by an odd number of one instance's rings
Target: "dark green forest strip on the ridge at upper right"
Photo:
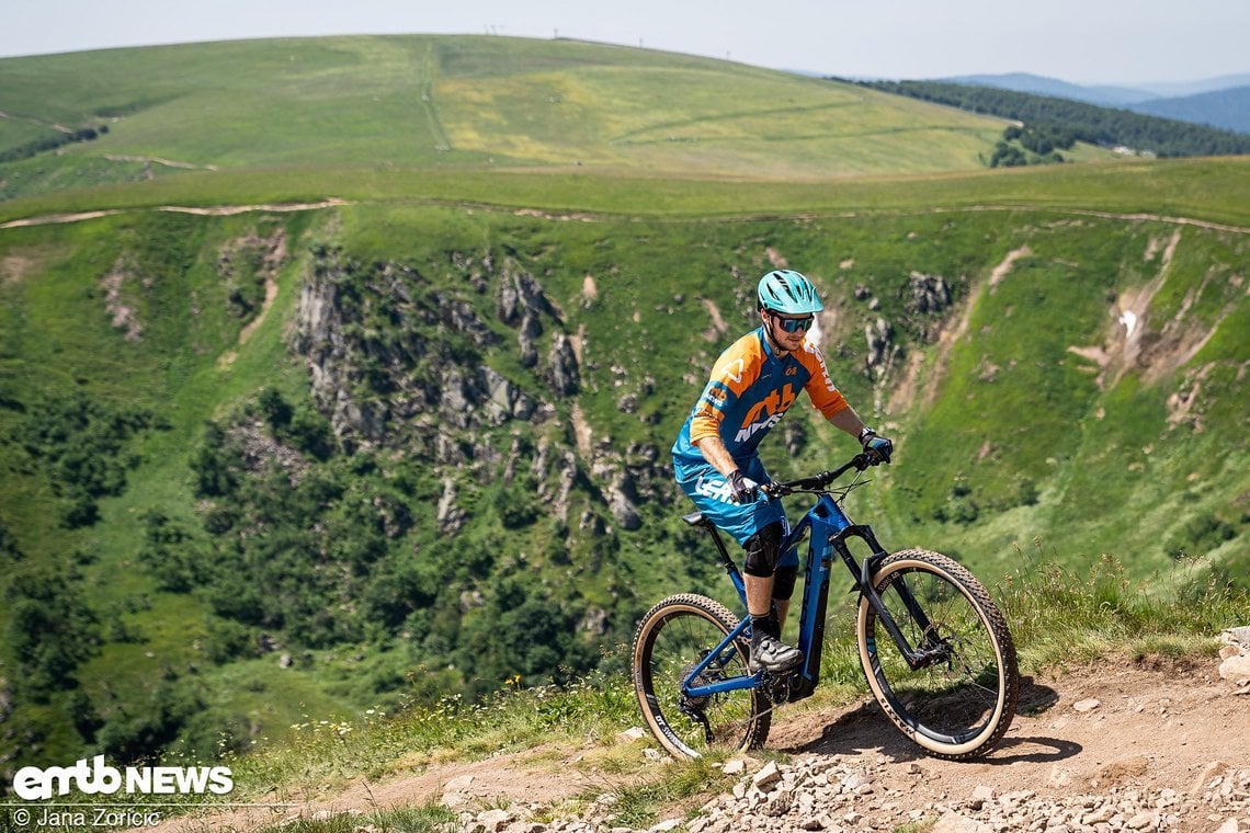
[[[845,81],[845,79],[832,79]],[[1250,136],[1129,110],[945,81],[856,81],[884,92],[1014,119],[1034,131],[1068,135],[1102,147],[1129,147],[1155,156],[1250,154]]]

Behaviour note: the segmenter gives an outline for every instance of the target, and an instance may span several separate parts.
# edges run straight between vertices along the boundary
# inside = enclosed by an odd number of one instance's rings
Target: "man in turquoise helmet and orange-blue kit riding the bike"
[[[672,445],[681,491],[745,551],[742,581],[751,617],[751,672],[798,666],[802,653],[781,642],[799,556],[780,558],[789,522],[779,500],[760,501],[770,482],[756,452],[760,441],[794,405],[801,390],[831,425],[856,437],[878,462],[890,462],[892,443],[864,425],[834,387],[820,348],[808,340],[824,308],[804,275],[774,270],[760,278],[760,326],[735,341],[712,366],[711,378]]]

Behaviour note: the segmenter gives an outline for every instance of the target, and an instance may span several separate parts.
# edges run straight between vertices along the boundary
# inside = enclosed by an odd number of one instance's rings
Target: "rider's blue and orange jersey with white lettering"
[[[735,341],[716,360],[708,386],[672,445],[678,480],[706,465],[698,448],[704,437],[720,435],[734,460],[754,456],[760,441],[781,421],[801,391],[808,391],[811,405],[825,418],[846,407],[816,345],[805,342],[802,350],[778,358],[764,327]]]

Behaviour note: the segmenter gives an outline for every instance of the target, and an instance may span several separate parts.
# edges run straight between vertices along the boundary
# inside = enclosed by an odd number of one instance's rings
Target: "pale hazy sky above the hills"
[[[1248,0],[8,0],[0,56],[242,37],[579,37],[826,75],[1250,72]],[[2,91],[0,91],[2,94]]]

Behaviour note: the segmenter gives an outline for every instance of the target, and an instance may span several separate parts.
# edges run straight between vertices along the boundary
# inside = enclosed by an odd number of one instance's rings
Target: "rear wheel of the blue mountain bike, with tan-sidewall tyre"
[[[670,596],[638,624],[634,634],[634,692],[642,718],[670,754],[698,758],[708,752],[739,752],[764,746],[771,703],[756,688],[691,697],[682,682],[738,627],[738,617],[705,596]],[[728,644],[694,686],[750,677],[748,643]]]

